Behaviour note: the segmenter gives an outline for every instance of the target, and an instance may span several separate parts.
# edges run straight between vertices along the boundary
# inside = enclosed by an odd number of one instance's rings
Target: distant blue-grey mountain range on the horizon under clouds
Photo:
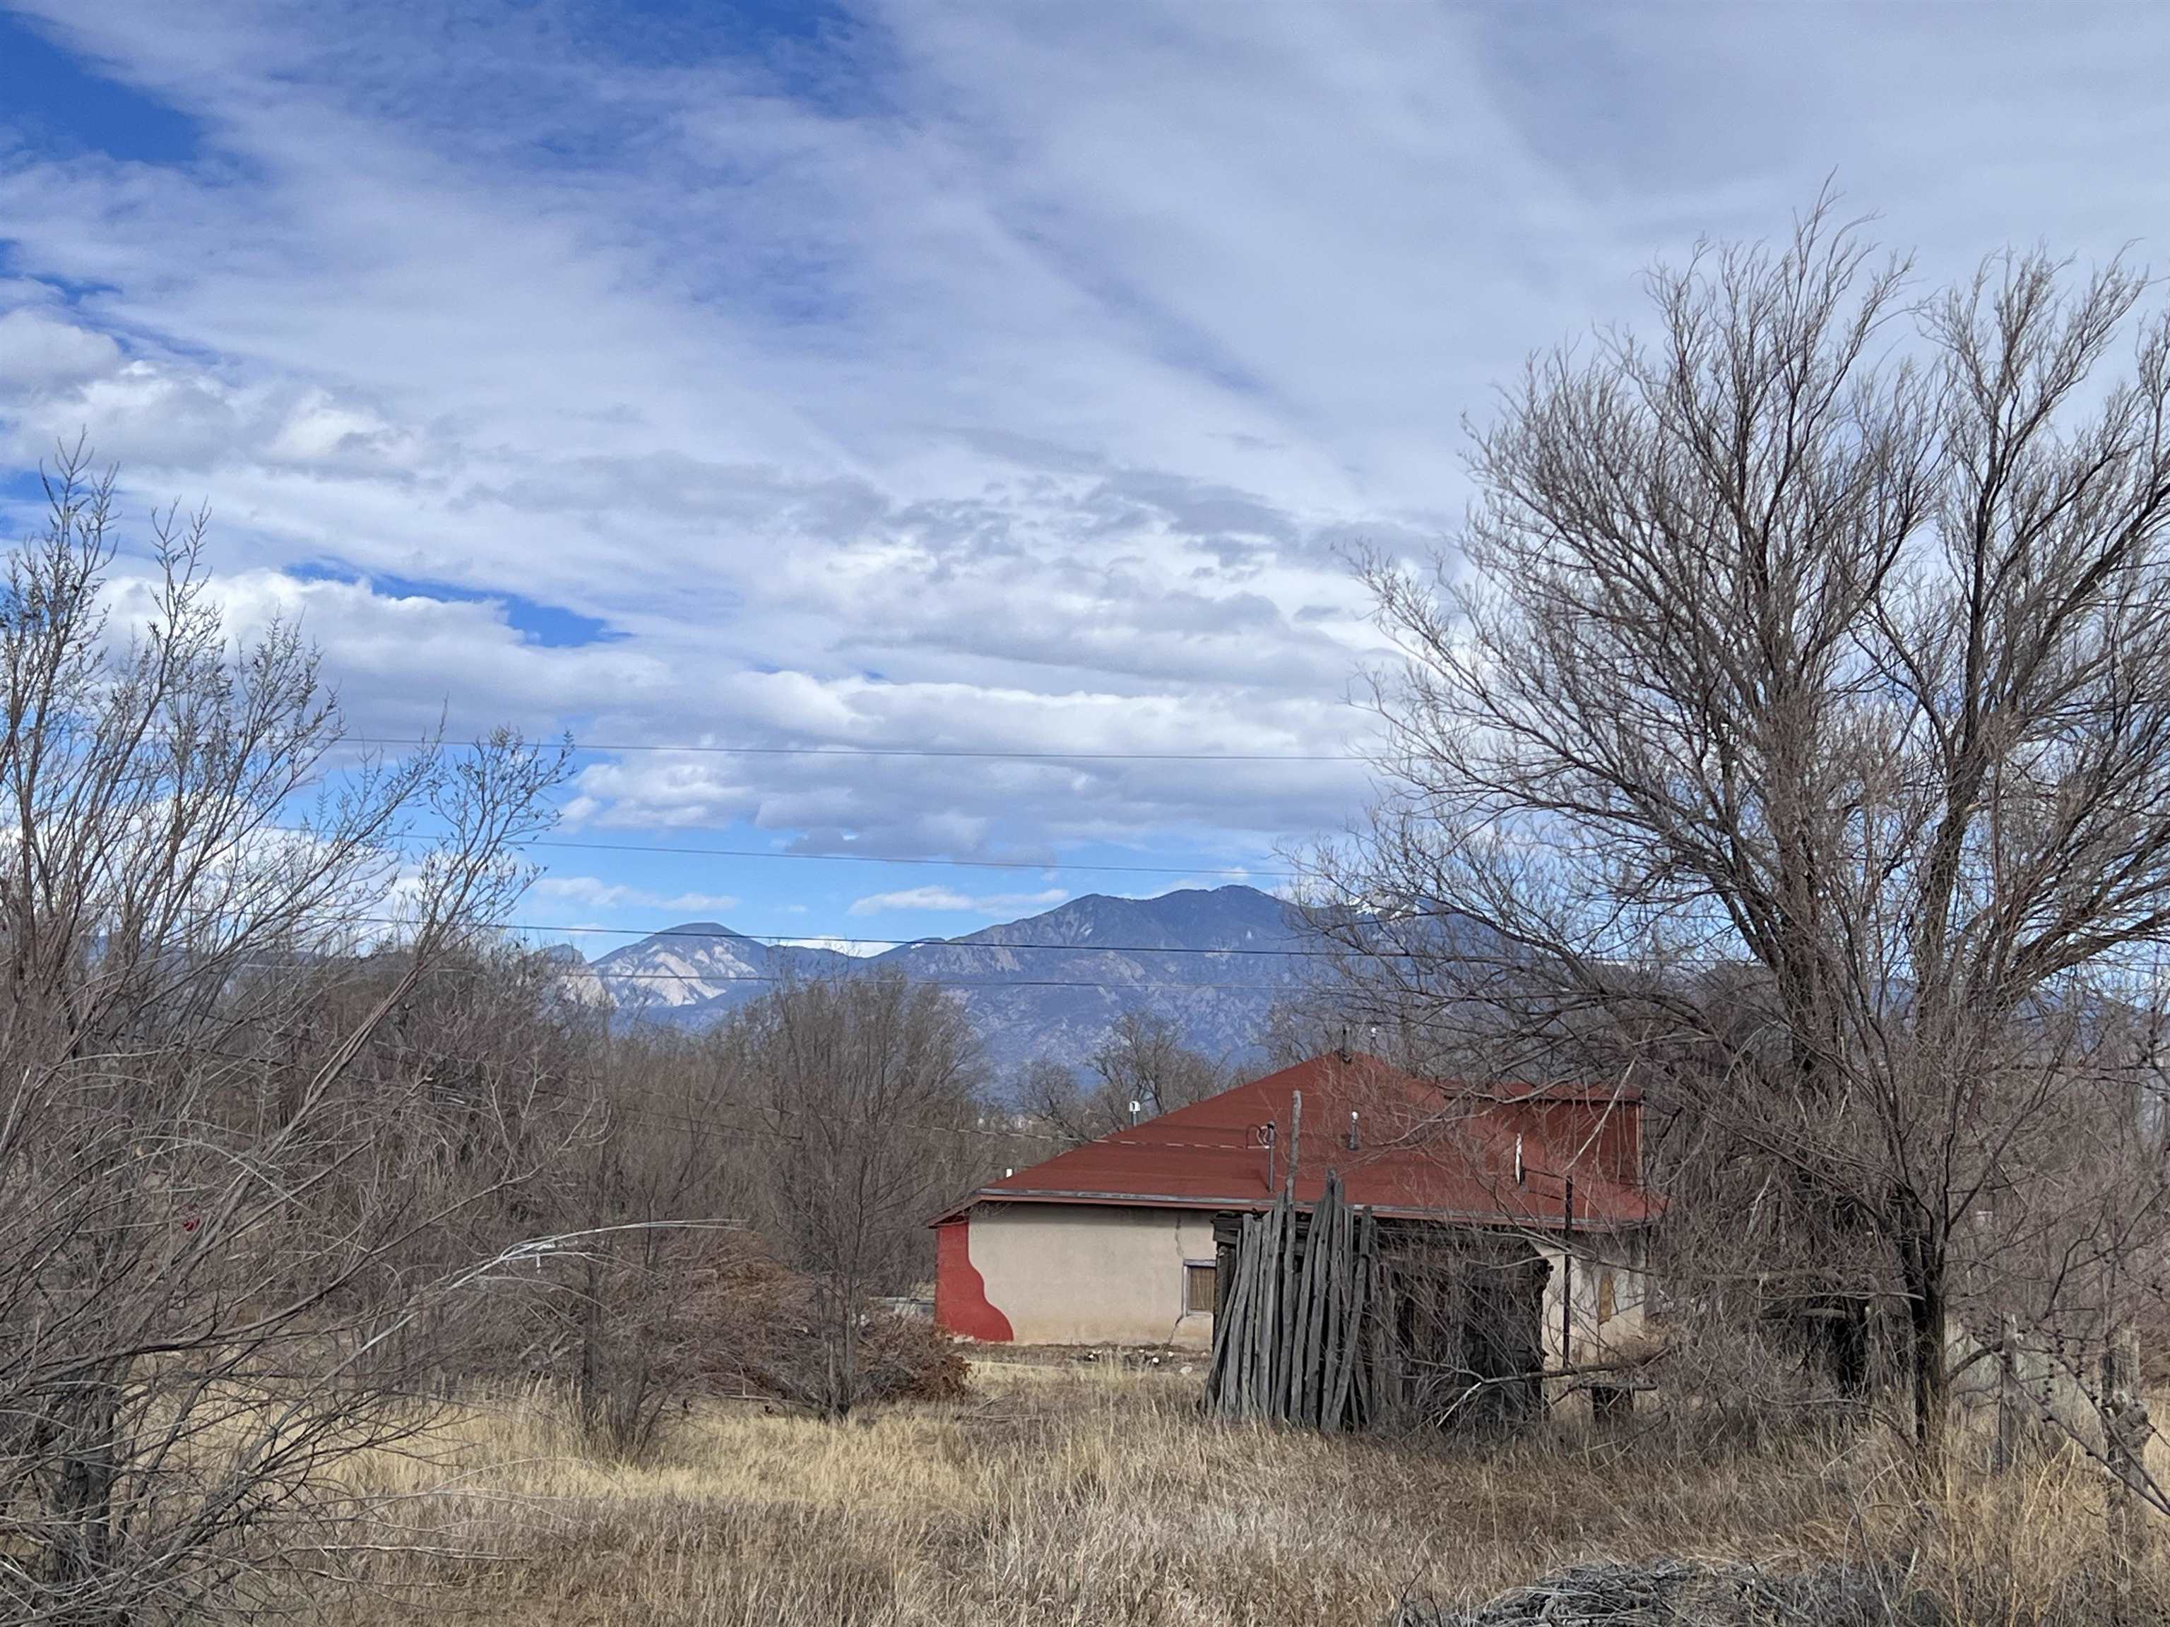
[[[621,1013],[699,1026],[786,976],[894,968],[955,989],[994,1076],[1007,1082],[1035,1056],[1083,1067],[1126,1011],[1167,1017],[1185,1043],[1220,1061],[1254,1061],[1274,1000],[1315,965],[1302,948],[1278,898],[1213,887],[1159,898],[1087,894],[1042,915],[870,957],[686,922],[590,961],[586,976]]]

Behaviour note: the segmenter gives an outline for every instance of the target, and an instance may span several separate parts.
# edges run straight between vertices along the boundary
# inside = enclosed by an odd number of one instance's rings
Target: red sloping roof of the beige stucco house
[[[1335,1169],[1350,1202],[1382,1215],[1558,1230],[1569,1180],[1575,1228],[1645,1226],[1660,1210],[1643,1184],[1632,1087],[1424,1080],[1378,1056],[1328,1054],[1020,1169],[935,1224],[983,1202],[1265,1208],[1287,1178],[1298,1093],[1302,1204],[1317,1202]]]

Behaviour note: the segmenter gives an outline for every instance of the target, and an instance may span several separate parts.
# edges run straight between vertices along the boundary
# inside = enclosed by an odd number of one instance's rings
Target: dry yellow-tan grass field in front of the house
[[[1575,1432],[1476,1449],[1207,1423],[1196,1378],[976,1365],[968,1401],[831,1425],[686,1417],[653,1462],[597,1462],[536,1399],[462,1412],[395,1493],[343,1627],[1382,1623],[1593,1558],[1784,1568],[1918,1553],[1968,1623],[2088,1618],[2101,1495],[2077,1464],[1940,1499],[1873,1436],[1684,1451]],[[2153,1577],[2142,1579],[2144,1588]]]

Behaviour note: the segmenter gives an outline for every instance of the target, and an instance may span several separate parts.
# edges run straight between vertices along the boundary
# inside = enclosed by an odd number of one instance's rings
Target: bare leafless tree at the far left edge
[[[0,592],[0,1614],[180,1620],[321,1564],[341,1453],[412,1421],[384,1351],[456,1291],[399,1250],[523,1176],[441,1180],[469,1115],[369,1061],[525,885],[562,753],[334,759],[299,633],[228,644],[200,516],[111,627],[111,477],[48,495]]]

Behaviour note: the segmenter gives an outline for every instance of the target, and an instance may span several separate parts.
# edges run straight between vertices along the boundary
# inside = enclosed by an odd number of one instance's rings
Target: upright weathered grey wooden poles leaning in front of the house
[[[1330,1169],[1309,1215],[1282,1189],[1269,1210],[1243,1217],[1213,1317],[1207,1412],[1363,1430],[1387,1388],[1382,1306],[1378,1217],[1352,1206]]]

